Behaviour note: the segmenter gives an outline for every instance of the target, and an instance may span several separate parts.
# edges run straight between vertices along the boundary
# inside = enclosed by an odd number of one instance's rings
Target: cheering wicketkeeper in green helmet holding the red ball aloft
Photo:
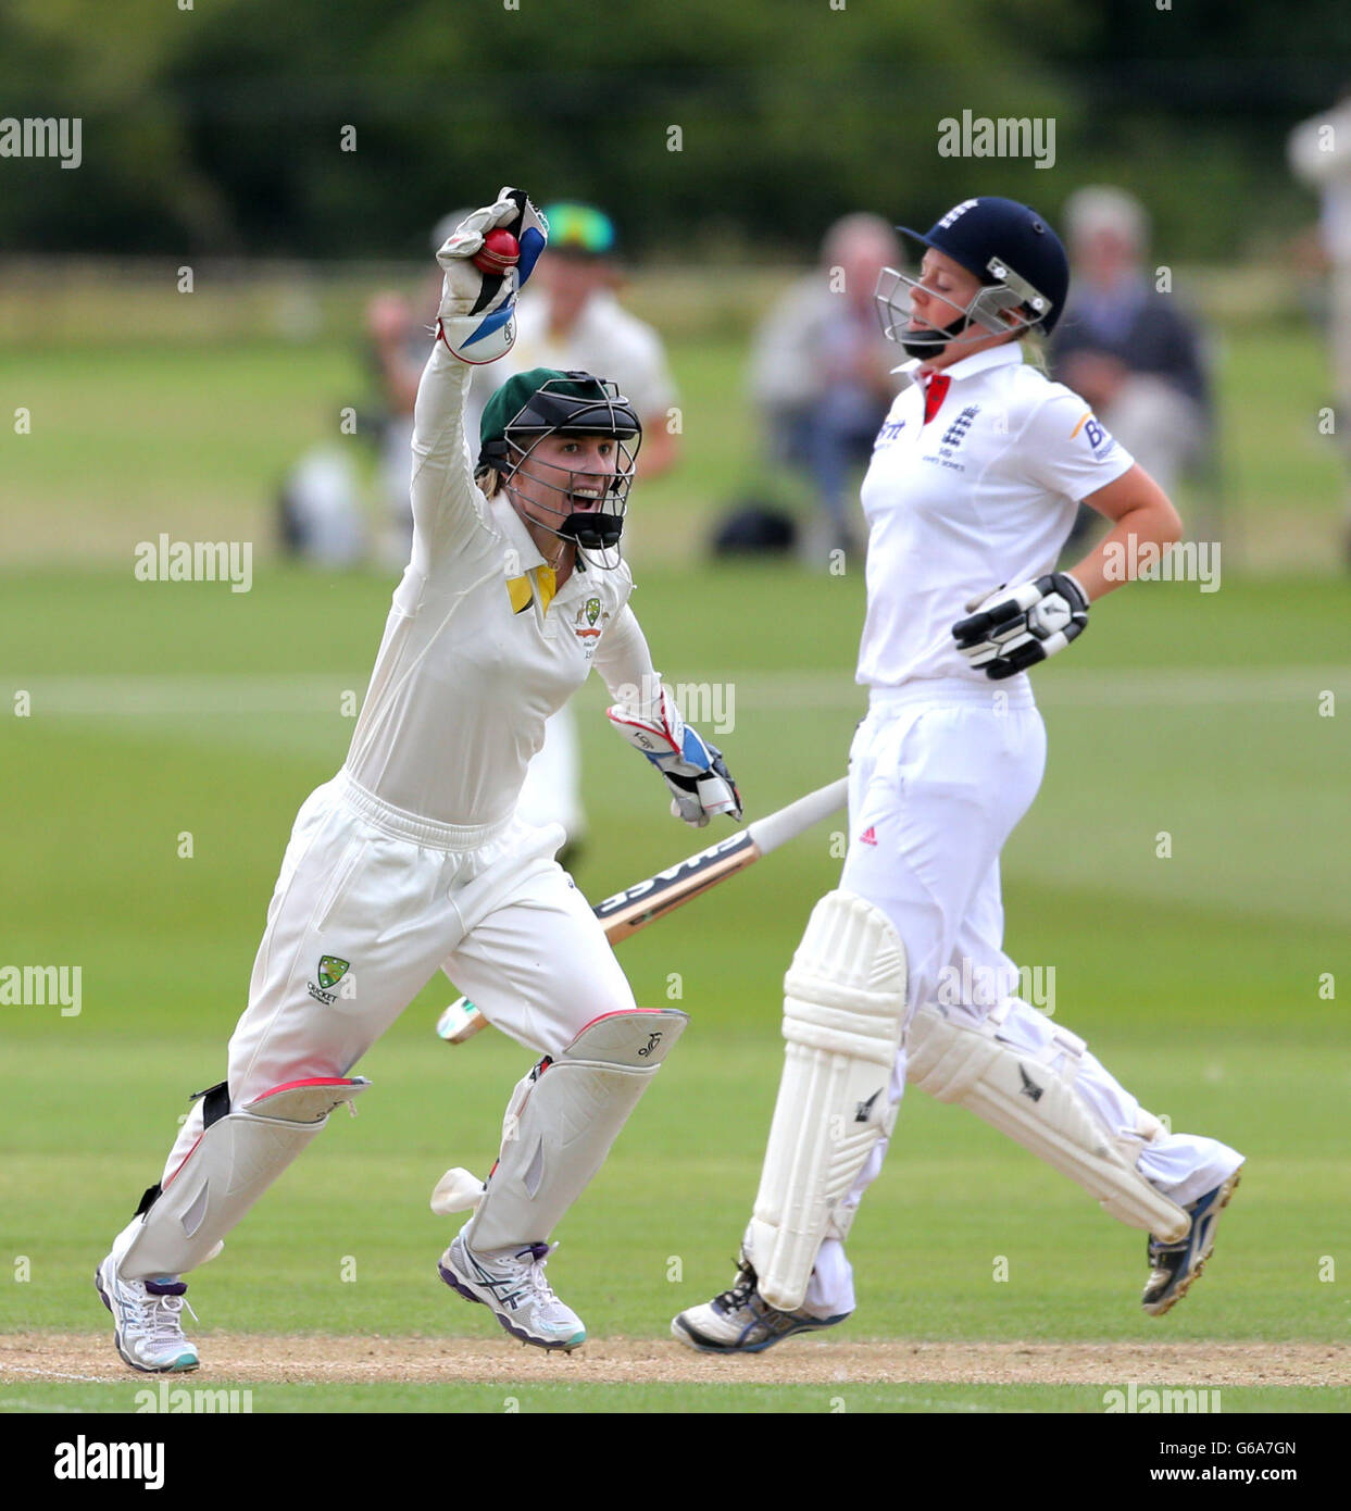
[[[562,831],[524,822],[517,795],[544,721],[595,666],[612,722],[662,772],[679,817],[739,817],[740,801],[718,751],[682,722],[629,609],[620,536],[641,440],[629,400],[585,372],[518,373],[484,411],[478,465],[465,444],[471,364],[511,349],[517,287],[546,236],[524,193],[503,189],[437,254],[413,559],[348,760],[296,817],[227,1079],[193,1098],[97,1271],[133,1369],[196,1367],[183,1275],[366,1089],[352,1068],[440,967],[544,1056],[508,1103],[497,1165],[461,1203],[475,1210],[440,1275],[527,1343],[585,1342],[546,1278],[549,1236],[686,1018],[635,1008],[553,858]]]

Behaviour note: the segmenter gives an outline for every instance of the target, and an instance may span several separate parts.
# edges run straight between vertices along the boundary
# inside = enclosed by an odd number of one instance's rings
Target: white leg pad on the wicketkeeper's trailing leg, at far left
[[[369,1085],[363,1076],[289,1082],[243,1108],[230,1108],[224,1085],[206,1092],[201,1138],[169,1185],[147,1192],[118,1253],[122,1278],[181,1275],[210,1259],[328,1114]]]

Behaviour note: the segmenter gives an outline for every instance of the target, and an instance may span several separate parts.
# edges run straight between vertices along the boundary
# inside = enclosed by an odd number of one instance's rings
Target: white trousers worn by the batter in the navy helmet
[[[849,849],[840,887],[881,908],[901,935],[911,1012],[941,1000],[946,1012],[981,1021],[999,999],[972,985],[1017,981],[1003,952],[999,852],[1037,796],[1044,768],[1046,727],[1026,677],[873,689],[849,749]],[[955,1008],[954,991],[961,994]],[[1005,1000],[1000,1038],[1026,1050],[1044,1046],[1049,1018],[1017,997]],[[1085,1053],[1076,1086],[1112,1138],[1135,1129],[1139,1103],[1094,1055]],[[902,1044],[892,1102],[904,1089]],[[858,1204],[886,1151],[880,1139],[846,1206]],[[1186,1204],[1239,1163],[1241,1156],[1215,1139],[1173,1133],[1145,1145],[1136,1168]],[[805,1306],[819,1316],[854,1310],[854,1275],[839,1239],[822,1245]]]

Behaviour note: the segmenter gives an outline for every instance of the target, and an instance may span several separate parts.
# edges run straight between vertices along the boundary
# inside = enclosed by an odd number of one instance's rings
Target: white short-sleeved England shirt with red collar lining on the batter
[[[1076,393],[1023,363],[1017,343],[964,357],[926,387],[919,379],[896,396],[863,479],[857,680],[869,688],[984,683],[952,639],[967,601],[1053,571],[1079,502],[1135,464]]]

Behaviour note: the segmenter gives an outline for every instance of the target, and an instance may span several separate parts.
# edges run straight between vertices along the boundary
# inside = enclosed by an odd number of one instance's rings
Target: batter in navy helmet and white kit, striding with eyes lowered
[[[1145,1112],[1082,1038],[1017,996],[1003,952],[999,852],[1046,760],[1026,671],[1079,636],[1114,585],[1108,544],[1174,541],[1180,521],[1088,405],[1023,361],[1022,338],[1055,326],[1070,281],[1046,221],[964,199],[905,234],[925,248],[920,277],[889,269],[878,284],[884,329],[911,361],[863,484],[869,712],[849,752],[849,849],[784,979],[783,1082],[736,1281],[671,1325],[712,1352],[756,1352],[854,1310],[845,1239],[907,1079],[1149,1231],[1150,1315],[1200,1274],[1242,1165]],[[1111,523],[1106,541],[1052,571],[1085,500]]]

